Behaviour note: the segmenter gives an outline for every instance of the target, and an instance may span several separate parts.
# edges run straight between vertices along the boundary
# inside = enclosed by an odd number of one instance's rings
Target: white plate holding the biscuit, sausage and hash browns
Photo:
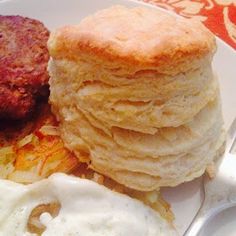
[[[155,8],[145,3],[127,0],[0,0],[0,14],[39,19],[53,30],[61,25],[77,24],[88,14],[114,4]],[[236,53],[223,41],[218,39],[217,43],[214,69],[220,79],[223,113],[228,128],[236,116]],[[181,235],[200,206],[201,178],[175,188],[166,188],[163,192],[175,213],[175,225]]]

